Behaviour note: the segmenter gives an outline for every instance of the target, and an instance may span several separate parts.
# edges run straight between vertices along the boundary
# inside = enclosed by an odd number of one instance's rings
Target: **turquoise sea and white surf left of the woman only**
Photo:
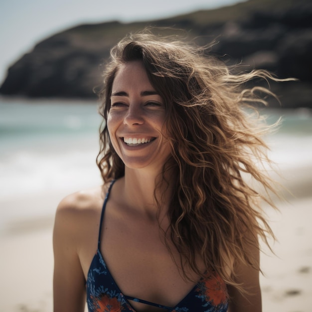
[[[96,102],[0,101],[0,198],[100,181]]]

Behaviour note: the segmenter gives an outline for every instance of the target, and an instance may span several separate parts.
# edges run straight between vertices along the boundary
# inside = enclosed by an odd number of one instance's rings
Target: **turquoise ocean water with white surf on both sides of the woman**
[[[283,118],[266,138],[270,157],[281,167],[311,164],[312,111],[264,113],[270,122]],[[0,99],[0,201],[101,183],[100,123],[97,102]]]

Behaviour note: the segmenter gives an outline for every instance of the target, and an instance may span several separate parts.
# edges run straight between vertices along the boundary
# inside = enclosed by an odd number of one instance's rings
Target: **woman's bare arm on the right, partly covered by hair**
[[[260,264],[260,252],[256,246],[250,249],[256,266]],[[230,304],[228,312],[262,312],[259,271],[240,263],[236,266],[236,282],[241,284],[247,294],[241,294],[238,289],[228,286]]]

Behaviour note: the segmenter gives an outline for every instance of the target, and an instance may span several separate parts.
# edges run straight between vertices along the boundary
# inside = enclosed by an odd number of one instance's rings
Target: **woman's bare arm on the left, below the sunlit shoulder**
[[[85,307],[85,278],[77,253],[79,222],[73,203],[68,198],[62,200],[55,216],[54,312],[83,312]]]

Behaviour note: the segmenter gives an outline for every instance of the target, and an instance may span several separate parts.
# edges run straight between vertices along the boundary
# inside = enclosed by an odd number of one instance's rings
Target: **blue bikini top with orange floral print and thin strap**
[[[162,308],[164,312],[226,312],[228,294],[224,281],[215,273],[206,274],[175,306],[165,307],[139,298],[124,295],[111,275],[100,251],[103,216],[111,183],[106,194],[100,221],[98,250],[87,277],[87,304],[89,312],[136,312],[129,301]]]

